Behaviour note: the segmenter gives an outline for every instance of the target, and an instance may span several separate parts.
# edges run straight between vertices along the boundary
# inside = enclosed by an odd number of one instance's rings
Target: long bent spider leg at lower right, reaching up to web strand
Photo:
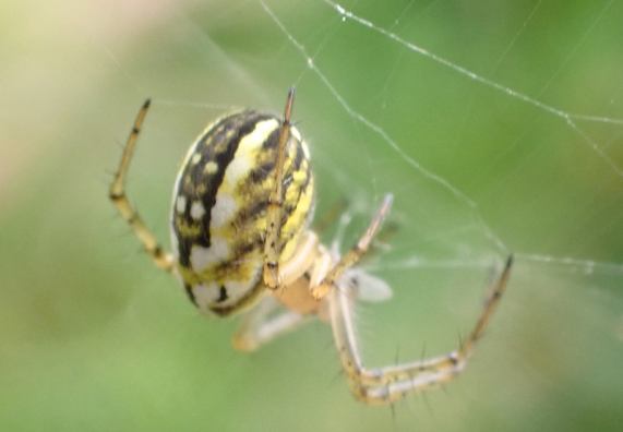
[[[504,293],[512,263],[510,256],[501,276],[491,286],[468,339],[458,349],[446,356],[384,368],[363,365],[355,334],[352,299],[342,287],[332,290],[328,299],[334,339],[355,396],[367,404],[391,404],[410,393],[454,380],[465,369]]]

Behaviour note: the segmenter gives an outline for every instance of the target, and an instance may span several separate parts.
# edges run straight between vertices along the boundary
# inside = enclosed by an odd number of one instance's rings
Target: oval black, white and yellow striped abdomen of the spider
[[[211,124],[191,146],[173,189],[171,239],[177,269],[202,310],[227,314],[263,290],[268,196],[274,188],[280,120],[245,110]],[[281,260],[307,229],[313,176],[291,127],[284,165]]]

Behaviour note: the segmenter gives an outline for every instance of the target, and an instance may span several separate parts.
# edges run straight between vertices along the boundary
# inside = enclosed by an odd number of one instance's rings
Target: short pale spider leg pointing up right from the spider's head
[[[344,274],[344,272],[357,264],[357,262],[361,260],[361,256],[368,252],[372,239],[374,239],[374,236],[379,232],[379,228],[381,228],[381,223],[390,212],[393,200],[394,197],[391,193],[385,195],[381,207],[379,207],[379,211],[372,218],[370,226],[363,236],[361,236],[359,241],[350,248],[350,250],[337,262],[335,266],[333,266],[319,285],[311,286],[311,295],[315,299],[322,299],[325,297],[330,292],[331,288],[335,286],[336,280]]]

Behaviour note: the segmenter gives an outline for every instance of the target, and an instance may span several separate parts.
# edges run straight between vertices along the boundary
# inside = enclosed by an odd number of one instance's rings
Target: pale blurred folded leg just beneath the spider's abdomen
[[[240,351],[254,351],[310,319],[291,311],[271,315],[277,309],[278,303],[273,297],[266,297],[262,300],[255,309],[244,316],[240,329],[233,336],[233,348]]]

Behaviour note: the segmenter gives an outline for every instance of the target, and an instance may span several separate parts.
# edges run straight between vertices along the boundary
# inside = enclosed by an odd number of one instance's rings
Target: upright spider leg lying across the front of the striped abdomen
[[[284,164],[286,160],[286,147],[290,137],[290,117],[293,103],[295,88],[291,87],[288,92],[286,108],[284,110],[284,120],[279,130],[277,160],[275,163],[275,185],[271,191],[268,208],[266,211],[263,278],[264,284],[273,290],[281,286],[281,280],[279,278],[279,256],[281,254],[279,231],[281,229],[281,218],[284,213]]]

